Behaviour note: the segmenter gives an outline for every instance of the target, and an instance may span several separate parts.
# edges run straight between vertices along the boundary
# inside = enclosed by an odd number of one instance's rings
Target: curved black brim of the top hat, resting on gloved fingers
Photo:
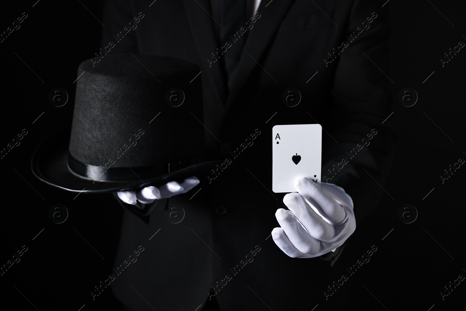
[[[183,181],[187,177],[199,178],[222,161],[207,161],[187,166],[151,179],[128,181],[94,181],[75,175],[68,167],[70,130],[56,132],[46,138],[34,151],[31,168],[34,175],[46,184],[70,192],[111,193],[135,190],[148,186],[162,186],[170,181]]]

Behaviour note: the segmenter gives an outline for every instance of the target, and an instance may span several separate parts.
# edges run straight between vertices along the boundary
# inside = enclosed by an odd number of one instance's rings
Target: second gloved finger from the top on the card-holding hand
[[[308,234],[312,235],[315,239],[330,242],[335,237],[335,227],[316,213],[301,194],[296,192],[286,194],[283,198],[283,203],[295,214],[296,219],[306,228]]]

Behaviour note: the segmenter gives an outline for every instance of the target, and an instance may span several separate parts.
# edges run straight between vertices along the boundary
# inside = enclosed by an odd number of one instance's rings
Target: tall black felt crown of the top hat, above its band
[[[93,166],[165,166],[204,151],[199,67],[154,55],[109,55],[78,68],[69,154]],[[174,107],[165,100],[172,88]],[[172,91],[170,91],[171,94]],[[195,116],[195,117],[194,117]],[[196,119],[198,118],[199,121]]]

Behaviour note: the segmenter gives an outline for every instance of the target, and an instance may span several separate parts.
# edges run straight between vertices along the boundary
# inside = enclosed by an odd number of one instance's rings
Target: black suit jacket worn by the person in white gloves
[[[231,161],[215,175],[197,176],[201,183],[189,193],[160,200],[147,222],[125,212],[115,266],[144,247],[112,281],[130,308],[195,310],[215,295],[222,310],[294,310],[312,309],[325,298],[335,281],[329,262],[290,258],[269,237],[279,226],[276,209],[285,207],[284,194],[271,192],[275,124],[322,125],[322,175],[328,173],[322,181],[352,197],[357,224],[382,196],[379,185],[395,147],[390,121],[384,122],[392,112],[387,6],[267,2],[261,1],[260,17],[247,30],[229,92],[221,54],[212,62],[225,43],[215,39],[209,0],[106,3],[102,42],[115,43],[108,53],[168,55],[199,65],[206,151]],[[140,12],[137,28],[117,41]],[[282,102],[288,87],[302,95],[295,107]]]

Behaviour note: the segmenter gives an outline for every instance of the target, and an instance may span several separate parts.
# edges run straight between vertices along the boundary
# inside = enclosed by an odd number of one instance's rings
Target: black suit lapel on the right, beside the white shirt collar
[[[226,100],[226,112],[223,117],[220,131],[224,132],[239,113],[236,100],[244,87],[251,72],[260,63],[260,58],[264,54],[267,44],[272,40],[283,17],[288,12],[288,8],[295,0],[261,0],[257,12],[260,14],[259,19],[254,23],[254,28],[250,31],[241,54],[237,72],[233,77],[232,88]],[[267,6],[267,7],[266,7]],[[254,59],[253,59],[254,58]]]

